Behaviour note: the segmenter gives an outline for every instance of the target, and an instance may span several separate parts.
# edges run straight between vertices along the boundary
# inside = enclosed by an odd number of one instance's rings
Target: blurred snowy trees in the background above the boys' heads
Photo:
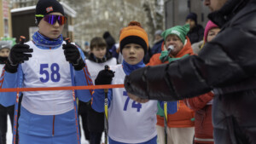
[[[77,11],[74,20],[75,40],[81,45],[106,31],[119,41],[119,31],[137,20],[153,42],[154,31],[164,28],[164,0],[62,0]],[[160,17],[160,18],[159,18]],[[157,21],[156,21],[157,20]],[[151,37],[150,37],[151,36]]]

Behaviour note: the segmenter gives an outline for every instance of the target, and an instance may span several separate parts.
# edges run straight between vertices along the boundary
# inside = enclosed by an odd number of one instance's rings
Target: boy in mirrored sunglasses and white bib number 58
[[[39,31],[33,34],[32,41],[16,44],[10,51],[1,77],[2,88],[91,85],[82,51],[63,41],[61,32],[67,18],[61,4],[56,0],[39,0],[36,20]],[[75,90],[75,95],[80,101],[89,101],[91,92]],[[15,96],[16,92],[2,93],[0,103],[13,105]],[[80,143],[74,100],[72,90],[24,91],[18,122],[19,144]]]

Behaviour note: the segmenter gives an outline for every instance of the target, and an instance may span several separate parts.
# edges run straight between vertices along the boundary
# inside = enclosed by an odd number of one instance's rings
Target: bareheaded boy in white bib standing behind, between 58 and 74
[[[107,43],[102,37],[93,37],[90,41],[90,55],[85,60],[90,78],[95,81],[97,74],[104,69],[104,66],[115,66],[117,60],[107,50]],[[80,107],[82,108],[82,107]],[[102,132],[104,130],[104,113],[96,112],[87,105],[87,127],[90,131],[90,144],[101,144]]]

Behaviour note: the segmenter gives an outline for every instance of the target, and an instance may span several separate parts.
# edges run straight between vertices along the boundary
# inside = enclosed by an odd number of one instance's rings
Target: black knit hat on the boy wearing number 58
[[[53,12],[59,12],[64,15],[64,9],[56,0],[39,0],[37,7],[36,7],[36,24],[40,22],[40,20],[43,19],[42,16],[38,15],[47,15]]]

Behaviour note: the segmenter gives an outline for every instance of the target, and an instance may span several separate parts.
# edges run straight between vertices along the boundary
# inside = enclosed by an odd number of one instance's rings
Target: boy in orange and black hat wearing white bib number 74
[[[137,21],[120,32],[120,50],[123,63],[102,70],[95,84],[124,84],[125,75],[144,67],[143,57],[148,51],[148,34]],[[108,89],[108,141],[109,144],[156,144],[157,101],[132,101],[124,88]],[[171,104],[170,104],[171,105]],[[104,111],[104,90],[96,89],[92,108]],[[177,102],[172,102],[172,113],[177,112]]]

